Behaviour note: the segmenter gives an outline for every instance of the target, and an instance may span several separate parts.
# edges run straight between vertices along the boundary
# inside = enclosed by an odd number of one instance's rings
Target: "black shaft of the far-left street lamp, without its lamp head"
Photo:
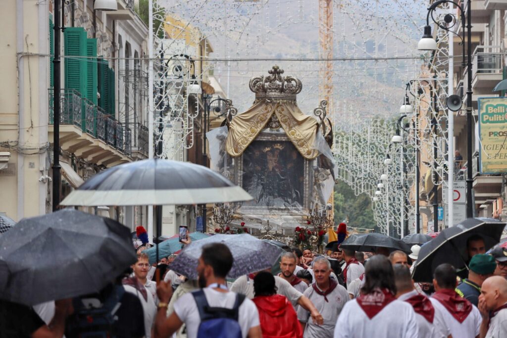
[[[53,211],[60,204],[60,0],[54,2],[53,58]]]

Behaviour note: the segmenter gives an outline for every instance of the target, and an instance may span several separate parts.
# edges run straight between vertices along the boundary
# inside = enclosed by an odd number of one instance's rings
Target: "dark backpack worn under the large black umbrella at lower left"
[[[67,338],[114,338],[113,327],[118,318],[116,312],[121,306],[120,300],[125,293],[121,285],[116,285],[111,294],[98,308],[86,307],[80,298],[73,300],[74,314],[65,325]]]

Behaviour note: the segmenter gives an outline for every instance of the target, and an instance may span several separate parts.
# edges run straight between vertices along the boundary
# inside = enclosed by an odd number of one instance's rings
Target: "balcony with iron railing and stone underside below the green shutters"
[[[53,139],[53,90],[49,90],[49,134]],[[60,147],[97,165],[131,162],[131,130],[75,90],[60,91]]]

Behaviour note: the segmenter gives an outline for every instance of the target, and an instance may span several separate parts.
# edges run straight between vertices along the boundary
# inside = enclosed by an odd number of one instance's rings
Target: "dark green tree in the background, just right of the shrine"
[[[334,199],[335,224],[341,223],[348,216],[350,227],[375,229],[372,202],[368,195],[355,196],[350,186],[340,181],[335,184]]]

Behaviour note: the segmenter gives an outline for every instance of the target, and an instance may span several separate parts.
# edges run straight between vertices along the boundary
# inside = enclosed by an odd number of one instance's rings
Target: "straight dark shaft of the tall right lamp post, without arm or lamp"
[[[466,90],[466,218],[474,217],[474,205],[472,200],[472,2],[467,0],[466,28],[467,28],[467,90]],[[464,45],[464,44],[463,44]],[[464,57],[464,53],[463,53]]]

